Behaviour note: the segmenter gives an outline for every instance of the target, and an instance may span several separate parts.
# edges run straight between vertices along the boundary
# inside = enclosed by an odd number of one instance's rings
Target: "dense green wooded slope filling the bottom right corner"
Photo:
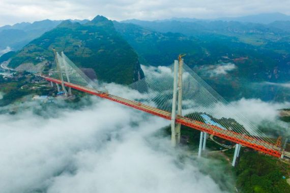
[[[290,192],[290,185],[282,178],[289,178],[290,167],[277,158],[251,150],[241,152],[236,172],[240,192]]]

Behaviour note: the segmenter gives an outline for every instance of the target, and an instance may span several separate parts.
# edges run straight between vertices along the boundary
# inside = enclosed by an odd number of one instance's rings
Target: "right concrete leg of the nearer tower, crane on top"
[[[177,109],[177,115],[182,116],[182,73],[183,73],[183,58],[180,58],[179,64],[178,64],[178,109]],[[180,143],[180,136],[181,136],[181,124],[178,123],[176,125],[176,132],[177,132],[177,144]]]

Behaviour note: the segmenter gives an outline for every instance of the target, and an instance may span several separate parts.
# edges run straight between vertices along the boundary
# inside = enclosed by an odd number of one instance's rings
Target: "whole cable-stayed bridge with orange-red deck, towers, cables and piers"
[[[129,88],[139,97],[126,99],[107,91],[87,77],[62,52],[55,52],[55,66],[39,76],[56,84],[67,97],[76,89],[171,121],[171,143],[181,140],[181,125],[200,131],[198,157],[206,147],[208,135],[236,143],[232,165],[235,166],[241,146],[279,158],[290,153],[277,145],[227,103],[205,81],[195,74],[182,57],[168,67],[158,67]],[[150,71],[151,67],[147,70]],[[151,69],[152,70],[152,69]],[[112,90],[113,92],[113,90]],[[184,115],[182,114],[184,113]],[[286,143],[286,142],[285,142]]]

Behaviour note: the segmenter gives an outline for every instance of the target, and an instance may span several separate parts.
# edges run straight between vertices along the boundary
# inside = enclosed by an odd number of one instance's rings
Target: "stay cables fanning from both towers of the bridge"
[[[51,77],[102,91],[101,86],[97,86],[63,52],[61,55],[56,53],[56,59],[57,66],[53,66],[50,70]],[[173,64],[167,67],[144,67],[146,77],[129,85],[129,88],[139,92],[135,101],[171,112],[173,67]],[[274,143],[271,139],[258,130],[232,104],[226,102],[185,63],[182,84],[183,116],[206,123],[209,128],[211,125],[215,125],[222,130],[249,136],[254,138],[257,144],[273,148]]]

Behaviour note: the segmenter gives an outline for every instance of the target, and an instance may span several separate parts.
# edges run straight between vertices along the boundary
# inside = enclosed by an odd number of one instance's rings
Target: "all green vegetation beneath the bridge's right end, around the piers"
[[[163,130],[164,136],[171,135],[171,127],[165,127]],[[193,130],[187,126],[181,126],[182,136],[187,136],[187,142],[183,145],[188,146],[189,150],[197,151],[199,145],[200,132]],[[217,138],[216,141],[223,141],[223,139]],[[234,145],[233,143],[230,143]],[[218,145],[214,141],[207,140],[207,148],[210,151],[223,150],[224,147]],[[228,175],[236,176],[236,187],[241,193],[272,193],[272,192],[290,192],[290,185],[286,182],[286,179],[290,177],[289,164],[282,162],[281,160],[259,153],[255,150],[242,147],[240,151],[240,158],[235,168],[231,167],[231,159],[234,156],[235,148],[228,149],[226,151],[220,151],[218,153],[209,153],[208,155],[214,159],[218,159],[221,163],[218,164],[219,168],[225,170]],[[226,185],[228,179],[221,179],[224,176],[218,175],[212,170],[212,168],[201,167],[202,170],[206,170],[208,174],[221,186],[222,189],[228,190],[230,187]],[[286,179],[283,179],[285,176]],[[233,191],[234,190],[229,190]]]

